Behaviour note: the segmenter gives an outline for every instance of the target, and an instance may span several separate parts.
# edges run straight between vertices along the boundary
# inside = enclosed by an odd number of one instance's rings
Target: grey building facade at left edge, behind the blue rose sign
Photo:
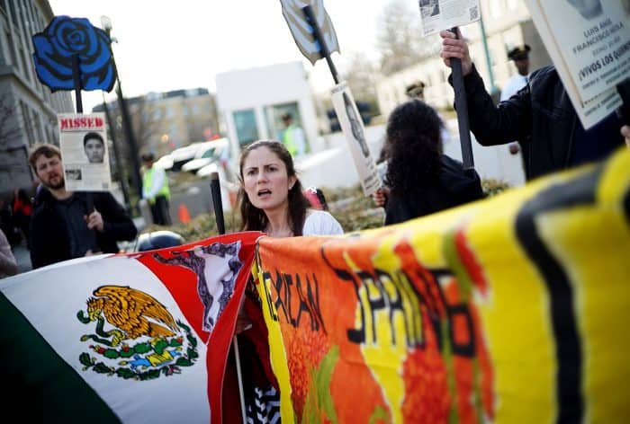
[[[58,144],[57,113],[74,111],[70,92],[40,83],[31,56],[53,16],[46,0],[0,0],[0,195],[31,187],[29,148]]]

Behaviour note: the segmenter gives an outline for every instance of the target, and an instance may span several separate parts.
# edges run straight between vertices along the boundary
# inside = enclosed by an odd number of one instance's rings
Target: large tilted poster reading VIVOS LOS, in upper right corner
[[[582,126],[591,128],[622,104],[616,84],[630,77],[630,0],[526,1]]]

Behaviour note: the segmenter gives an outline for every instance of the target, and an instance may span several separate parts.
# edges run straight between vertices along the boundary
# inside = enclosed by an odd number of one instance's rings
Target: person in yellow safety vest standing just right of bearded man
[[[152,152],[142,155],[142,162],[145,165],[142,176],[142,199],[148,201],[153,224],[171,225],[171,216],[168,212],[168,200],[171,198],[168,177],[166,177],[166,171],[159,166],[154,166],[155,160],[156,157]]]

